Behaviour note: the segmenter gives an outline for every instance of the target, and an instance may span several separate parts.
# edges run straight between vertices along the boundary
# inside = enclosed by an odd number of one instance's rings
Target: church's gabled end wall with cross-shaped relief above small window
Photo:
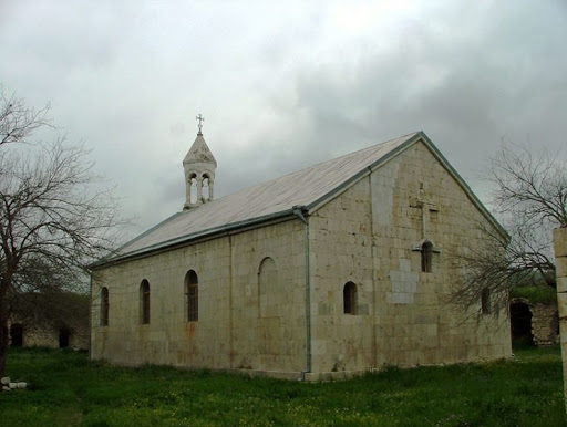
[[[447,303],[462,272],[451,253],[472,248],[486,218],[422,144],[324,205],[310,218],[313,371],[455,363],[511,355],[506,313],[465,313]],[[424,239],[434,246],[423,272]],[[342,289],[358,288],[343,313]],[[478,306],[472,311],[478,311]]]

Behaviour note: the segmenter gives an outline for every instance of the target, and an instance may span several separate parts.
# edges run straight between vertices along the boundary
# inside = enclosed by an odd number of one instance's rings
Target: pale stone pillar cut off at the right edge
[[[567,228],[556,228],[554,230],[554,249],[563,358],[563,384],[567,410]]]

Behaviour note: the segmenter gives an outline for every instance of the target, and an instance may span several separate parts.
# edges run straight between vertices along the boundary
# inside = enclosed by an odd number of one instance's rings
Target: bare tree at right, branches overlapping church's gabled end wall
[[[495,188],[494,214],[508,237],[478,225],[483,242],[454,254],[465,280],[452,300],[478,306],[487,293],[493,313],[498,313],[508,305],[513,287],[556,285],[551,229],[567,227],[567,168],[557,156],[504,145],[491,162],[487,179]]]

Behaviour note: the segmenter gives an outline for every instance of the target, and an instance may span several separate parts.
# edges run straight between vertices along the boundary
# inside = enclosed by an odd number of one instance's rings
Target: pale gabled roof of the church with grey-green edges
[[[417,132],[246,188],[198,208],[175,214],[93,267],[291,217],[298,207],[306,215],[312,214],[419,140],[430,148],[491,222],[504,232],[427,136],[423,132]]]

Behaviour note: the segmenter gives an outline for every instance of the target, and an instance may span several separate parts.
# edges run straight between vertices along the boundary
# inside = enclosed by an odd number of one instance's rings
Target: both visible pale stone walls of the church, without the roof
[[[477,243],[475,221],[486,218],[419,143],[316,210],[308,247],[305,225],[289,219],[97,271],[91,355],[290,378],[311,360],[307,379],[509,356],[505,315],[476,323],[480,302],[465,313],[445,301],[462,280],[450,254]],[[434,246],[431,272],[421,269],[425,238]],[[198,277],[197,322],[186,315],[189,270]],[[151,290],[148,324],[141,322],[143,280]],[[357,290],[348,314],[347,282]],[[109,289],[107,325],[100,322],[102,287]]]

